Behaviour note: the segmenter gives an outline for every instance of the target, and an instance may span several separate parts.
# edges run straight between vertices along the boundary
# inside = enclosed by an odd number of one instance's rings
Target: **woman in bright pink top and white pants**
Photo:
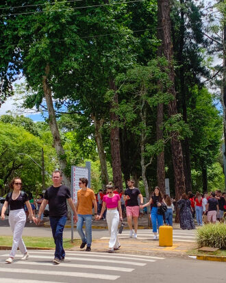
[[[119,249],[119,247],[121,247],[120,243],[118,242],[118,223],[119,219],[123,221],[123,217],[120,196],[118,194],[113,193],[113,186],[111,182],[106,186],[106,188],[107,195],[103,196],[103,204],[99,219],[102,218],[103,212],[105,211],[105,208],[107,208],[106,220],[108,223],[108,231],[110,234],[108,252],[113,253],[114,250],[117,250]]]

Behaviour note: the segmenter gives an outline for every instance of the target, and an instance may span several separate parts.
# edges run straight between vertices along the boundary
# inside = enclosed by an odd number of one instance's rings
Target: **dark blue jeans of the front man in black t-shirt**
[[[61,260],[65,257],[63,248],[63,232],[66,223],[66,216],[63,217],[49,217],[53,238],[55,242],[55,258]]]

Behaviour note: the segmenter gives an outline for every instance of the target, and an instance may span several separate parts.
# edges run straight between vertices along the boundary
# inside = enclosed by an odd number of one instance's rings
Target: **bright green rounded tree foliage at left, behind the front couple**
[[[12,177],[19,175],[25,190],[41,190],[41,170],[29,156],[41,164],[42,147],[45,153],[45,171],[51,173],[56,164],[52,147],[47,147],[39,137],[30,134],[23,127],[0,122],[0,179],[3,184],[9,184]],[[49,180],[46,181],[49,184]]]

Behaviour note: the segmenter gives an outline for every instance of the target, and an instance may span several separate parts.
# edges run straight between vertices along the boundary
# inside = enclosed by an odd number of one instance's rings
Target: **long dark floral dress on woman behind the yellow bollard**
[[[194,221],[192,218],[191,206],[189,199],[180,199],[177,201],[179,205],[179,216],[180,216],[180,226],[181,229],[195,229]]]

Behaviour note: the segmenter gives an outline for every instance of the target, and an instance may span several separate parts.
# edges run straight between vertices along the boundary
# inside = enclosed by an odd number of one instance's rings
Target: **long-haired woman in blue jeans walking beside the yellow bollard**
[[[157,222],[158,228],[163,225],[163,215],[158,214],[158,208],[160,208],[161,203],[165,204],[164,198],[162,197],[162,193],[158,186],[155,186],[155,191],[147,204],[140,206],[140,208],[145,208],[146,206],[151,206],[151,222],[153,227],[154,237],[153,240],[157,240]]]

